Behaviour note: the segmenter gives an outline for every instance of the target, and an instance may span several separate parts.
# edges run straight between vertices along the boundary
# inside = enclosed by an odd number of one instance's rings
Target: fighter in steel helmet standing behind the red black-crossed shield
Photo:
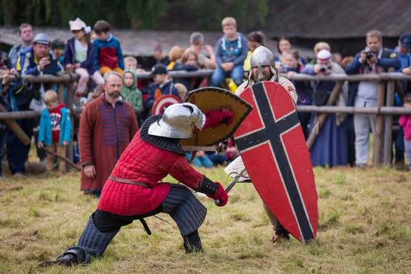
[[[290,93],[290,97],[292,100],[297,103],[297,92],[295,90],[294,85],[285,77],[279,76],[278,71],[275,68],[275,60],[273,53],[264,46],[258,47],[253,54],[251,55],[251,71],[249,72],[249,79],[247,82],[244,82],[239,86],[236,90],[236,95],[240,95],[243,90],[252,86],[254,83],[262,82],[262,81],[271,81],[277,82],[284,86],[284,88]],[[239,156],[229,164],[225,169],[227,174],[232,173],[240,173],[240,171],[244,169],[244,163],[242,162],[242,158]],[[239,181],[244,181],[245,179],[240,179]],[[275,190],[273,190],[275,191]],[[271,226],[275,232],[273,236],[273,242],[278,242],[279,240],[288,240],[290,236],[288,236],[288,232],[282,225],[277,221],[275,215],[269,207],[262,201],[262,206],[269,217]]]

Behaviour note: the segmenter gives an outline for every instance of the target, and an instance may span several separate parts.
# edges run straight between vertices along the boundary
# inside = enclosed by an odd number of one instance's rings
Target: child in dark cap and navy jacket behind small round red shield
[[[155,100],[162,97],[162,95],[178,95],[178,90],[175,88],[173,82],[169,80],[169,71],[164,64],[156,64],[151,69],[154,83],[149,87],[149,95],[145,101],[145,107],[151,109]]]

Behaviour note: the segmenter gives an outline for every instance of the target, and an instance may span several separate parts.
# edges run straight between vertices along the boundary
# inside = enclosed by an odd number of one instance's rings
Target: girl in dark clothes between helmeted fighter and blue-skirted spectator
[[[284,71],[287,73],[287,78],[291,79],[292,75],[295,73],[301,73],[304,69],[303,64],[301,64],[301,60],[299,58],[299,52],[297,49],[290,49],[286,55],[284,55],[286,60],[286,66],[288,69]],[[299,100],[297,101],[297,105],[311,105],[312,103],[312,90],[310,88],[310,82],[306,81],[293,81],[291,80],[292,84],[295,86],[297,90],[297,95]],[[310,122],[310,112],[298,112],[298,119],[301,123],[301,128],[303,129],[304,137],[308,138],[308,123]]]

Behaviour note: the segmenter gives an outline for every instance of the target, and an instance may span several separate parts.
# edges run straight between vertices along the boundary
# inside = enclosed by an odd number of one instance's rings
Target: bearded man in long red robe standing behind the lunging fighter
[[[138,130],[132,105],[123,101],[123,77],[104,75],[105,92],[87,104],[79,126],[81,190],[100,197],[110,172]]]

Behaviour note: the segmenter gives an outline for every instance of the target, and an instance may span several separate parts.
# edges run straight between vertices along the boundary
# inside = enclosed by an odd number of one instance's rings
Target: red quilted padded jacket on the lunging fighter
[[[119,215],[140,215],[154,210],[169,194],[170,184],[158,183],[169,174],[193,189],[203,179],[203,175],[192,169],[184,155],[145,142],[140,138],[139,131],[111,175],[145,183],[149,188],[108,179],[98,208]]]

